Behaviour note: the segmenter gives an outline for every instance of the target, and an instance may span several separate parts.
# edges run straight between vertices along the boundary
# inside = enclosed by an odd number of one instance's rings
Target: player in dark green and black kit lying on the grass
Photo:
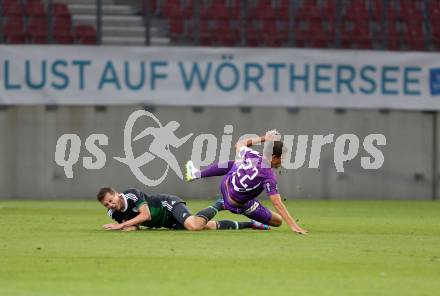
[[[186,230],[203,229],[261,229],[269,226],[256,221],[236,222],[230,220],[210,221],[223,207],[221,202],[192,215],[186,203],[175,195],[147,195],[137,189],[122,193],[112,187],[103,187],[97,194],[98,201],[108,209],[108,215],[117,223],[103,225],[107,230],[137,230],[148,228],[169,228]]]

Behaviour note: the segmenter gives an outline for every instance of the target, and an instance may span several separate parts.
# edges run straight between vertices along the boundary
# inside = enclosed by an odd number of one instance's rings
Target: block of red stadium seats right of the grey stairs
[[[193,24],[198,22],[199,43],[207,46],[439,49],[437,0],[242,1],[247,3],[243,13],[240,1],[200,1],[197,7],[195,3],[161,1],[159,15],[168,21],[172,43],[191,43],[197,35]],[[245,43],[240,40],[242,23]]]

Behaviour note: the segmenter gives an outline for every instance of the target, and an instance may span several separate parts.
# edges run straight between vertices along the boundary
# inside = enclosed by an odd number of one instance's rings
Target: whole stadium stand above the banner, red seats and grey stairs
[[[3,43],[98,43],[95,0],[51,3],[2,0]],[[102,44],[440,49],[439,0],[102,3]]]

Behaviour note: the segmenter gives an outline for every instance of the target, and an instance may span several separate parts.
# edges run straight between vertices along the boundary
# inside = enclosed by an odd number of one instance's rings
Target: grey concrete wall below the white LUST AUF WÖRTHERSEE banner
[[[182,197],[207,198],[218,194],[219,178],[187,184],[170,171],[165,182],[145,188],[130,169],[113,159],[124,156],[123,129],[128,116],[138,107],[109,107],[97,111],[93,107],[59,107],[47,110],[44,106],[9,107],[0,110],[0,198],[94,198],[100,186],[111,184],[117,189],[134,186],[147,193],[167,192]],[[283,170],[279,188],[286,198],[303,199],[425,199],[433,196],[432,170],[434,146],[434,116],[422,112],[379,112],[377,110],[285,108],[205,108],[194,112],[191,107],[156,107],[154,115],[162,124],[180,122],[176,135],[211,133],[218,138],[225,124],[234,126],[234,141],[245,133],[262,134],[277,128],[283,134],[356,134],[361,140],[371,133],[382,133],[387,145],[382,147],[385,162],[379,170],[364,170],[359,155],[345,164],[345,172],[337,173],[333,163],[334,144],[323,147],[319,169],[306,164],[298,170]],[[244,111],[244,112],[243,112]],[[250,112],[249,112],[250,111]],[[135,125],[135,132],[151,122]],[[440,126],[437,127],[440,130]],[[104,133],[109,145],[101,170],[86,170],[82,159],[74,166],[74,178],[67,179],[63,168],[54,160],[57,139],[64,133],[76,133],[83,142],[81,158],[90,156],[84,147],[92,133]],[[184,162],[191,156],[193,136],[179,149],[171,148],[183,171]],[[134,144],[135,155],[147,151],[148,139]],[[295,140],[294,149],[296,149]],[[309,145],[311,140],[309,141]],[[220,146],[220,143],[218,143]],[[232,150],[231,150],[232,157]],[[439,161],[440,157],[437,157]],[[150,178],[159,177],[165,163],[155,159],[143,171]]]

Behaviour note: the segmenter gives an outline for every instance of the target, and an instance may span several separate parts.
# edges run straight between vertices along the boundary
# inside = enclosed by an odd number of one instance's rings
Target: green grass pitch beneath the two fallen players
[[[287,205],[310,235],[110,232],[95,201],[0,201],[0,295],[439,295],[439,202]]]

